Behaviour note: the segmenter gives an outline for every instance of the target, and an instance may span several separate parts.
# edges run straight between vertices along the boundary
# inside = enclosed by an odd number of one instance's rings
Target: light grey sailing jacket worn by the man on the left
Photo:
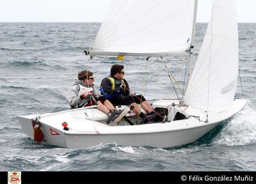
[[[85,84],[83,81],[80,81],[80,80],[75,81],[75,84],[68,90],[68,95],[66,97],[67,102],[72,109],[84,107],[84,105],[86,105],[87,102],[91,100],[90,98],[84,98],[83,100],[80,98],[80,95],[79,95],[80,86],[78,84],[86,88],[89,88],[89,86]],[[93,86],[93,91],[92,91],[93,96],[96,95],[95,91],[96,91],[95,87]]]

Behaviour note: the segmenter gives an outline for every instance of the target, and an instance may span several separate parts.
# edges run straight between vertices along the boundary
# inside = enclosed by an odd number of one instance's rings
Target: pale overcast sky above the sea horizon
[[[129,0],[127,0],[129,1]],[[0,22],[102,22],[111,0],[0,0]],[[198,1],[208,22],[212,0]],[[256,0],[237,0],[238,22],[256,22]]]

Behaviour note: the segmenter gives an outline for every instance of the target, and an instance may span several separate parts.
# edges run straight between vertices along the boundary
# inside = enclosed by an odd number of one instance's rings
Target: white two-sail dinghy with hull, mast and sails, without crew
[[[23,132],[34,138],[31,119],[37,117],[45,144],[86,148],[115,142],[168,148],[195,142],[241,111],[246,100],[235,98],[239,72],[236,1],[212,4],[204,41],[191,70],[197,4],[197,0],[114,0],[92,48],[84,52],[91,57],[186,58],[182,98],[152,104],[155,111],[165,112],[163,122],[139,125],[132,121],[135,114],[130,107],[122,105],[116,109],[129,109],[128,120],[107,124],[108,116],[93,105],[19,116]]]

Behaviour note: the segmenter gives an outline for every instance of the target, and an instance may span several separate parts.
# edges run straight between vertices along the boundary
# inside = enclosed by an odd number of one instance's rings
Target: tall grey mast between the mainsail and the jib
[[[195,31],[196,31],[196,13],[197,13],[197,6],[198,0],[195,0],[195,9],[194,9],[194,18],[193,18],[193,29],[192,29],[192,36],[191,36],[191,46],[189,50],[189,62],[188,62],[188,70],[186,73],[186,89],[188,88],[189,77],[191,75],[191,63],[192,63],[192,56],[193,56],[193,49],[194,49],[194,42],[195,42]],[[185,92],[186,92],[185,89]]]

